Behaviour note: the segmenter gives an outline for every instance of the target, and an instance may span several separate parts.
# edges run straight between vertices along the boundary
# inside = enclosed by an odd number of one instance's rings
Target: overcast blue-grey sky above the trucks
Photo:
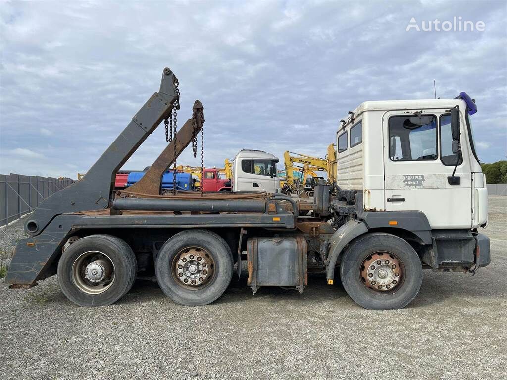
[[[179,79],[180,125],[205,107],[205,165],[239,149],[320,156],[366,100],[477,100],[483,162],[505,158],[507,2],[0,2],[0,172],[86,172],[157,91]],[[479,31],[406,31],[422,21]],[[165,146],[163,125],[125,165]],[[191,149],[179,163],[198,165]]]

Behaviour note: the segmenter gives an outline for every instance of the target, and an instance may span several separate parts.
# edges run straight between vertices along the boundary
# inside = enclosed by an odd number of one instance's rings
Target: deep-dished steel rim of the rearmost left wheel
[[[72,280],[83,293],[97,295],[111,288],[116,270],[113,260],[100,251],[87,251],[74,260]]]

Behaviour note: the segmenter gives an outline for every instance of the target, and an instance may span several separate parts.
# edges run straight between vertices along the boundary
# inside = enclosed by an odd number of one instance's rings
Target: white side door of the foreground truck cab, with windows
[[[442,109],[416,112],[389,111],[383,117],[385,210],[422,211],[433,229],[468,229],[472,173],[467,160],[460,158],[456,169],[459,184],[447,178],[458,157],[452,153],[450,115]]]

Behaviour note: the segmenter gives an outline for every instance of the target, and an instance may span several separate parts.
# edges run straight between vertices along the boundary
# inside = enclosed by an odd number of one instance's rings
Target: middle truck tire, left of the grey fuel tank
[[[207,305],[229,286],[233,257],[228,244],[207,230],[186,230],[162,247],[155,266],[162,291],[185,306]]]

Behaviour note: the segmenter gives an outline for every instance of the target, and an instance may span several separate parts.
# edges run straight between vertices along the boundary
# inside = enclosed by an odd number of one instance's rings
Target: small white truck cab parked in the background
[[[232,191],[234,193],[280,193],[277,162],[277,157],[262,150],[240,150],[232,166]]]

